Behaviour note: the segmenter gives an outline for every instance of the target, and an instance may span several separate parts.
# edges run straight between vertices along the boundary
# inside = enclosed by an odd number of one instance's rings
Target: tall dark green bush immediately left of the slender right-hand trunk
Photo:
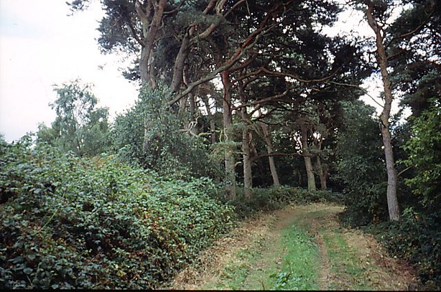
[[[366,225],[387,216],[386,171],[374,109],[356,101],[345,103],[343,127],[337,138],[337,174],[344,185],[345,220]]]

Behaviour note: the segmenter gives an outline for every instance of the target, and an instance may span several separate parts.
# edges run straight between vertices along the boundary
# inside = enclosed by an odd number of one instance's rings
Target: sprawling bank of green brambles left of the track
[[[0,289],[148,289],[232,227],[206,178],[0,143]]]

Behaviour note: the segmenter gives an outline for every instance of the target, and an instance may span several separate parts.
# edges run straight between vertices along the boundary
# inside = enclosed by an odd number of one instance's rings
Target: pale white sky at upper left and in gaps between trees
[[[48,105],[57,96],[54,84],[76,78],[93,83],[99,106],[109,107],[111,119],[136,100],[137,86],[119,71],[125,67],[121,56],[99,52],[96,28],[103,11],[99,1],[92,3],[89,10],[68,17],[65,1],[0,0],[0,132],[8,142],[37,131],[40,122],[49,126],[54,121],[55,112]],[[357,18],[355,12],[340,17]],[[360,34],[369,34],[367,24],[359,21],[325,32],[349,32],[356,25]],[[380,92],[371,91],[373,96]]]

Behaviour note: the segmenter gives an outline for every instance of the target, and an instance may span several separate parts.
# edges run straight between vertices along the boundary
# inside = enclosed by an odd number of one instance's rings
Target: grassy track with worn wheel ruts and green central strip
[[[415,282],[410,269],[369,234],[340,227],[340,211],[294,205],[247,220],[167,288],[407,290]]]

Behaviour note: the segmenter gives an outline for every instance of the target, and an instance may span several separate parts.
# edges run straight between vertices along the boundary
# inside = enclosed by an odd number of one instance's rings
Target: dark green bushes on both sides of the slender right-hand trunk
[[[410,118],[411,127],[395,128],[395,154],[401,174],[398,196],[403,209],[400,220],[387,221],[387,202],[382,196],[386,189],[382,180],[385,174],[376,159],[378,154],[374,153],[380,149],[373,145],[380,145],[373,135],[378,132],[374,127],[370,127],[369,134],[365,127],[353,128],[354,120],[350,120],[343,132],[349,139],[338,148],[342,159],[335,177],[345,180],[346,209],[340,214],[340,220],[350,227],[361,227],[373,233],[392,255],[406,260],[416,269],[424,289],[435,290],[441,285],[439,105],[439,101],[432,100],[420,116]],[[362,121],[360,117],[358,121]],[[367,142],[358,151],[349,149],[354,141],[362,139],[360,136],[369,135],[371,138],[363,138]]]

